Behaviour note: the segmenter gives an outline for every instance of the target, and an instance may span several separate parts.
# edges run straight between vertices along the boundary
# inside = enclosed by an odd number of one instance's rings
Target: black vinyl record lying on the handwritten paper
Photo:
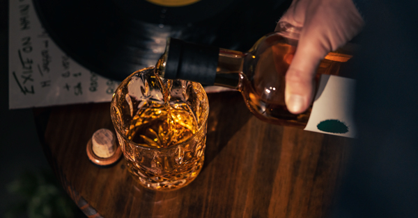
[[[252,0],[33,0],[52,40],[87,69],[122,81],[155,65],[167,37],[247,50],[290,3]]]

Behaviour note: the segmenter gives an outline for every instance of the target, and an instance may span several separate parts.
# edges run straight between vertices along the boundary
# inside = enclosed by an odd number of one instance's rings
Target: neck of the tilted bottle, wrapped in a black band
[[[169,79],[238,89],[246,53],[169,39],[156,72]]]

